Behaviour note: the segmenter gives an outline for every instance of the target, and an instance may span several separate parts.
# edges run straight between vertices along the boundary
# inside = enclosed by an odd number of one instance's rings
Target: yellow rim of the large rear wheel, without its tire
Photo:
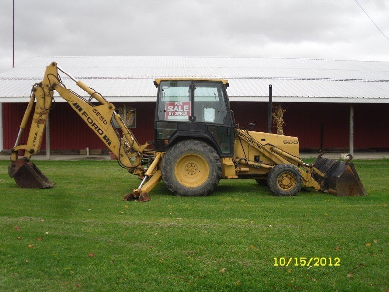
[[[197,187],[207,180],[210,170],[203,157],[186,154],[178,159],[174,173],[178,183],[187,187]]]

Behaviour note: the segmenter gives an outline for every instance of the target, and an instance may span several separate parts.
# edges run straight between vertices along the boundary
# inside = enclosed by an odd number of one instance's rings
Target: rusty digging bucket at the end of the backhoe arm
[[[50,188],[55,185],[32,161],[25,161],[24,158],[11,161],[8,174],[20,188]]]

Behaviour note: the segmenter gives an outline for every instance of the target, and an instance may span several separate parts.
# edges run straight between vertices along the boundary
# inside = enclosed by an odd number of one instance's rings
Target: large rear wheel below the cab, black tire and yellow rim
[[[176,196],[207,196],[219,184],[220,157],[207,143],[188,139],[163,156],[162,179]]]

